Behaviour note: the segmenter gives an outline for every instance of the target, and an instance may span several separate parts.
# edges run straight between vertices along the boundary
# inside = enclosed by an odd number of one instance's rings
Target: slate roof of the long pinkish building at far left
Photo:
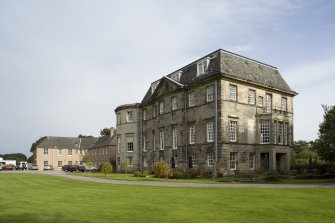
[[[91,148],[97,138],[75,138],[75,137],[46,137],[38,148],[68,148],[68,149],[88,149]]]

